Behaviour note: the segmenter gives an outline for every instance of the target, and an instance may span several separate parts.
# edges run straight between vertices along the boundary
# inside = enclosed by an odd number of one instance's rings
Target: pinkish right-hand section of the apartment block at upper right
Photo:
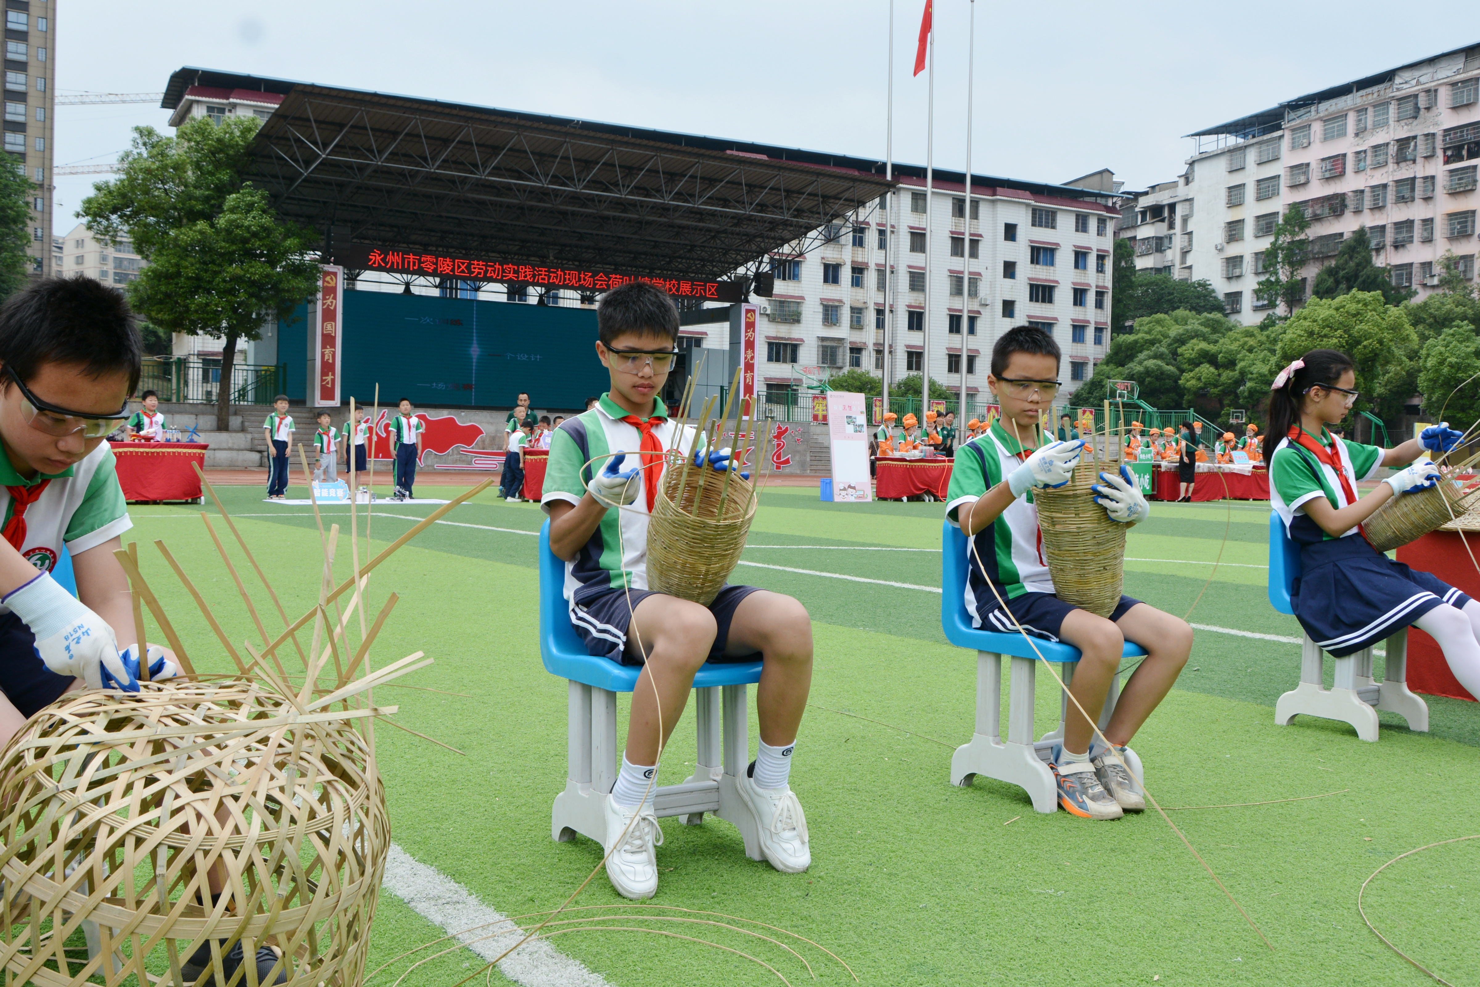
[[[1301,203],[1311,218],[1308,277],[1335,256],[1345,237],[1366,226],[1373,262],[1390,268],[1397,286],[1422,296],[1437,284],[1439,260],[1449,252],[1459,271],[1474,278],[1480,47],[1339,89],[1282,104],[1279,201],[1282,212]],[[1254,237],[1268,232],[1249,231]],[[1261,260],[1262,255],[1254,256],[1255,272]]]

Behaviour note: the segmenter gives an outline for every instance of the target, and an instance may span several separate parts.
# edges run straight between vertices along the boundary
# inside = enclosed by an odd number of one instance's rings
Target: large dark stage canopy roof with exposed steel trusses
[[[194,86],[283,96],[247,178],[329,255],[719,278],[892,186],[882,161],[206,68],[173,73],[161,105]]]

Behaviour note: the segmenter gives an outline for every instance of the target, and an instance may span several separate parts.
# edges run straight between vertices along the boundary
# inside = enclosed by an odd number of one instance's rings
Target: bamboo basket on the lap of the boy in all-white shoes
[[[740,474],[727,481],[712,469],[685,471],[681,457],[670,457],[648,521],[648,589],[712,604],[740,561],[755,505],[755,484]]]

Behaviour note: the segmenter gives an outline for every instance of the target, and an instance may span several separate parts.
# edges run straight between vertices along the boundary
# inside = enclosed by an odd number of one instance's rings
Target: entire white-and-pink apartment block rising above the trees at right
[[[1264,246],[1301,203],[1311,219],[1307,286],[1341,241],[1368,228],[1373,263],[1419,296],[1453,252],[1474,277],[1480,163],[1480,46],[1307,93],[1188,135],[1175,182],[1135,203],[1137,269],[1208,280],[1230,318],[1258,323]],[[1175,240],[1174,240],[1175,234]]]

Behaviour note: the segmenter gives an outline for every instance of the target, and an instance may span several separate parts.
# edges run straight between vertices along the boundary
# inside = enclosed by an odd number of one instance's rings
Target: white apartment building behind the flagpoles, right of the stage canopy
[[[798,394],[793,367],[823,376],[847,368],[882,376],[888,367],[891,382],[921,373],[926,333],[931,379],[955,391],[965,366],[971,401],[986,395],[992,345],[1021,324],[1058,340],[1066,391],[1086,380],[1110,342],[1109,265],[1119,216],[1111,173],[1069,185],[975,175],[969,218],[961,172],[937,170],[931,201],[924,169],[895,166],[895,176],[889,222],[873,203],[771,255],[774,293],[755,299],[765,342],[756,348],[758,376],[771,401]],[[885,351],[887,256],[897,278],[892,352]]]

